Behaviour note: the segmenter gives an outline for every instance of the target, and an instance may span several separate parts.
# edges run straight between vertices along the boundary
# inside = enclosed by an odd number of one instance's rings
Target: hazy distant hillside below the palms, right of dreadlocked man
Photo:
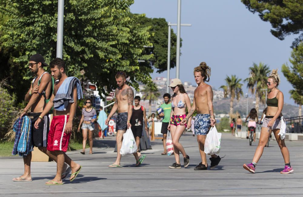
[[[255,107],[255,98],[248,98],[248,113],[250,112],[250,109]],[[229,113],[229,105],[230,105],[230,99],[214,99],[213,101],[214,104],[214,111],[216,114],[228,114]],[[239,101],[235,100],[234,101],[234,112],[238,111],[241,116],[246,116],[246,104],[247,104],[247,99],[246,98],[241,98]],[[259,105],[260,110],[263,111],[264,109],[264,104]],[[259,112],[259,116],[261,116],[262,112]],[[284,104],[282,114],[284,117],[293,117],[293,116],[298,116],[298,106],[294,105],[289,105],[289,104]]]

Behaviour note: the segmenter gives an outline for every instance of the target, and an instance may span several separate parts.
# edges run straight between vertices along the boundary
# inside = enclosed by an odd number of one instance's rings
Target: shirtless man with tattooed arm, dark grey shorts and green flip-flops
[[[122,167],[122,165],[120,165],[120,149],[122,146],[123,134],[126,132],[126,129],[132,127],[130,120],[132,117],[132,104],[134,101],[134,91],[125,83],[126,74],[124,72],[118,72],[115,78],[118,85],[118,88],[115,90],[116,100],[111,112],[108,115],[108,118],[105,120],[105,124],[108,125],[109,120],[118,110],[116,120],[117,159],[112,165],[108,166],[110,168]],[[136,159],[136,166],[141,165],[146,157],[146,155],[143,155],[142,158],[139,159],[141,153],[138,152],[135,152],[133,155]]]

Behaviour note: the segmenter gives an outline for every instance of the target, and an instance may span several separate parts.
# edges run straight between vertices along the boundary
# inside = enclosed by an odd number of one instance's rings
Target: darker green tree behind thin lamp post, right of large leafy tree
[[[152,47],[145,48],[145,54],[153,54],[153,57],[141,64],[152,64],[157,68],[157,72],[161,73],[167,70],[167,45],[168,45],[168,26],[165,18],[147,18],[142,17],[139,20],[142,27],[151,27],[149,32],[151,37],[149,42]],[[182,46],[182,39],[180,42]],[[171,29],[171,54],[170,54],[170,68],[176,65],[176,48],[177,48],[177,35]]]

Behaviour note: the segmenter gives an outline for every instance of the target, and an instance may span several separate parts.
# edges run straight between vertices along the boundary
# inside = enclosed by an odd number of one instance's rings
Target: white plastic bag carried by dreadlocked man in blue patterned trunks
[[[221,133],[218,133],[215,126],[211,127],[206,135],[204,143],[204,152],[208,155],[214,155],[220,152],[221,149]]]

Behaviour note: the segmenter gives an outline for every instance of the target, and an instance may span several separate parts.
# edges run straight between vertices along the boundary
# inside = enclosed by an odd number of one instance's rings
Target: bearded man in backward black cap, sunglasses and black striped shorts
[[[39,129],[35,129],[35,121],[40,117],[46,103],[50,99],[53,91],[53,78],[45,72],[43,66],[48,66],[44,58],[40,54],[32,55],[29,58],[29,69],[37,76],[32,80],[30,88],[25,95],[25,101],[28,102],[22,114],[28,113],[29,118],[32,120],[32,145],[38,147],[39,150],[46,153],[47,136],[49,131],[49,117],[45,115],[43,121],[40,123]],[[20,177],[14,178],[13,181],[32,181],[31,176],[31,160],[32,153],[30,152],[24,160],[24,174]]]

